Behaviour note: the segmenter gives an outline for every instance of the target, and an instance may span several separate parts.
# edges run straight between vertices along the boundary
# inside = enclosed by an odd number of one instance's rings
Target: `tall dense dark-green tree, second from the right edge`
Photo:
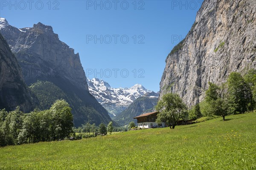
[[[231,114],[246,112],[252,97],[249,85],[237,72],[230,73],[227,84],[229,112]]]

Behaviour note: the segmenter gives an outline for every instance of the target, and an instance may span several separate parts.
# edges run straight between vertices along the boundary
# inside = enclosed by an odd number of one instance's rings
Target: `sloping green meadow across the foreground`
[[[256,113],[77,141],[0,148],[0,170],[252,170]]]

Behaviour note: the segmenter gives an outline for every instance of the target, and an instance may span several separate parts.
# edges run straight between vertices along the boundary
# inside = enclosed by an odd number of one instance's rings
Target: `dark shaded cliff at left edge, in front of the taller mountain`
[[[35,102],[37,100],[26,87],[17,59],[0,34],[0,109],[12,111],[20,106],[21,111],[29,112],[34,109]]]

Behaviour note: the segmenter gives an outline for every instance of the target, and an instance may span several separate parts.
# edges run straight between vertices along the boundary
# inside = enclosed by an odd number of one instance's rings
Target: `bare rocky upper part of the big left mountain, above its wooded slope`
[[[51,26],[42,23],[32,28],[15,28],[1,18],[0,32],[16,54],[27,84],[37,79],[67,79],[88,91],[79,54],[58,38]]]

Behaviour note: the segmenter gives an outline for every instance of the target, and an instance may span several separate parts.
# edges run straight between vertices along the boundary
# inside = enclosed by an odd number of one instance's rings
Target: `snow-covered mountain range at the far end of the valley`
[[[124,111],[135,99],[141,96],[157,98],[158,94],[147,90],[143,85],[136,84],[131,88],[111,88],[108,82],[102,79],[88,79],[90,91],[98,102],[109,112],[110,116],[116,116]]]

